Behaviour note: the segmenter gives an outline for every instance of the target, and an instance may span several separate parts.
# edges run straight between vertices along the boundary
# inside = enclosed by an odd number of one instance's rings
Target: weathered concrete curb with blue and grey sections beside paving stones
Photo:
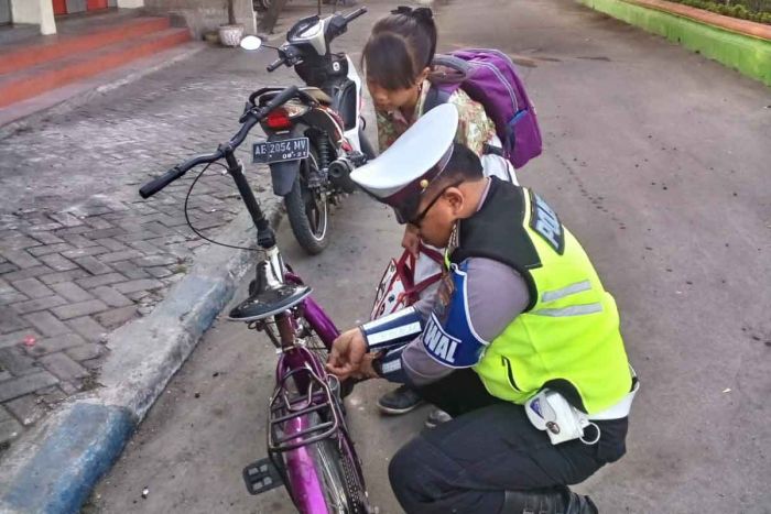
[[[278,199],[264,201],[278,227]],[[254,241],[241,212],[219,238],[236,245]],[[230,300],[254,252],[209,248],[191,273],[142,319],[110,335],[104,389],[73,397],[13,444],[0,463],[0,513],[74,513],[110,469],[134,429]]]

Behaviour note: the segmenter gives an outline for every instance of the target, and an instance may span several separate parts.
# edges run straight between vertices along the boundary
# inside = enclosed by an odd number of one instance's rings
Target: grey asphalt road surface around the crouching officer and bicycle
[[[496,46],[522,65],[546,147],[520,179],[593,255],[642,378],[628,456],[582,490],[612,513],[771,512],[771,92],[567,0],[449,1],[437,11],[443,48]],[[352,197],[315,259],[283,232],[339,325],[366,315],[394,253],[384,216]],[[251,499],[239,477],[261,455],[268,348],[218,322],[89,508],[289,512],[281,492]],[[351,411],[372,497],[391,513],[388,456],[425,412],[381,419],[372,401],[384,389],[357,390]]]

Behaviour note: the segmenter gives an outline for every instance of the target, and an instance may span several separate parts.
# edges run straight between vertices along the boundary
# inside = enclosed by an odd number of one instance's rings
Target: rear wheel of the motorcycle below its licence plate
[[[316,152],[312,149],[307,158],[307,173],[297,174],[292,190],[284,196],[286,216],[292,227],[292,232],[303,249],[316,255],[322,253],[329,244],[329,203],[326,192],[311,189],[308,176],[318,173]]]

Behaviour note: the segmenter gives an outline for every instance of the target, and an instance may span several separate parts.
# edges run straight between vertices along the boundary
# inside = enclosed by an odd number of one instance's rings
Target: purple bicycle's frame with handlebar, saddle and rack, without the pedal
[[[271,411],[268,420],[269,456],[275,462],[275,457],[283,455],[285,466],[275,466],[282,473],[287,492],[295,506],[307,514],[328,513],[327,502],[323,490],[323,480],[318,475],[318,467],[310,452],[308,445],[330,439],[337,442],[339,458],[343,464],[352,464],[352,474],[346,477],[356,480],[357,491],[363,497],[352,499],[359,504],[368,505],[361,466],[348,435],[345,417],[340,407],[340,384],[337,378],[326,373],[324,362],[313,351],[303,345],[303,322],[318,335],[327,350],[339,335],[335,324],[324,313],[322,307],[310,296],[311,288],[283,264],[276,247],[275,232],[260,209],[260,205],[243,175],[243,165],[236,157],[235,150],[245,141],[247,134],[269,112],[283,105],[298,94],[296,87],[290,87],[278,94],[263,107],[253,106],[242,116],[239,132],[228,142],[218,146],[217,151],[198,155],[185,163],[174,166],[140,188],[143,198],[162,190],[165,186],[182,177],[187,171],[199,164],[225,160],[227,171],[234,178],[241,199],[257,228],[257,243],[263,252],[258,262],[258,278],[261,278],[257,289],[264,293],[261,296],[250,291],[250,297],[231,311],[231,319],[254,324],[259,329],[267,329],[271,340],[280,349],[276,364],[276,386],[271,396]],[[234,316],[242,306],[240,316]],[[279,329],[279,338],[270,329],[269,320],[274,320]],[[290,380],[291,379],[291,380]],[[330,384],[337,384],[337,392]],[[293,387],[294,397],[289,396],[284,384]],[[302,393],[305,393],[304,396]],[[279,402],[284,402],[283,405]],[[275,407],[275,408],[273,408]],[[326,412],[327,420],[314,424],[315,413]],[[279,426],[280,425],[280,426]],[[272,429],[279,426],[281,437],[274,437]],[[348,468],[350,470],[350,468]],[[351,500],[351,499],[348,499]]]

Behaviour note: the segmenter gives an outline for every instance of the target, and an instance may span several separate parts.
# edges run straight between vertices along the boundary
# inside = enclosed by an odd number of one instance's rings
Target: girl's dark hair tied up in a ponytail
[[[436,24],[428,8],[400,7],[379,20],[361,54],[367,79],[386,89],[415,84],[436,53]]]

